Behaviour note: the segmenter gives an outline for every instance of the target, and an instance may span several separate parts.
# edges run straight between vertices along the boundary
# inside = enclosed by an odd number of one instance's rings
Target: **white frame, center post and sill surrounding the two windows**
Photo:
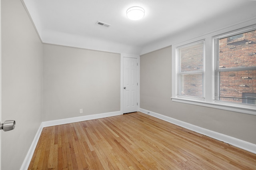
[[[227,29],[218,30],[216,32],[208,33],[202,36],[199,36],[194,39],[190,39],[188,41],[184,41],[181,43],[176,43],[172,45],[172,101],[187,103],[192,105],[199,105],[204,107],[211,107],[216,109],[246,113],[250,115],[256,115],[256,107],[255,105],[244,105],[239,103],[225,102],[225,101],[216,101],[214,100],[215,93],[215,57],[214,57],[214,38],[221,36],[232,36],[235,34],[242,34],[247,30],[256,29],[256,25],[251,25],[247,27],[242,26],[233,26]],[[205,42],[205,79],[204,79],[204,100],[194,99],[191,97],[178,97],[177,95],[177,73],[178,73],[178,59],[176,48],[182,45],[186,45],[193,42],[198,42],[200,40],[204,40]]]

